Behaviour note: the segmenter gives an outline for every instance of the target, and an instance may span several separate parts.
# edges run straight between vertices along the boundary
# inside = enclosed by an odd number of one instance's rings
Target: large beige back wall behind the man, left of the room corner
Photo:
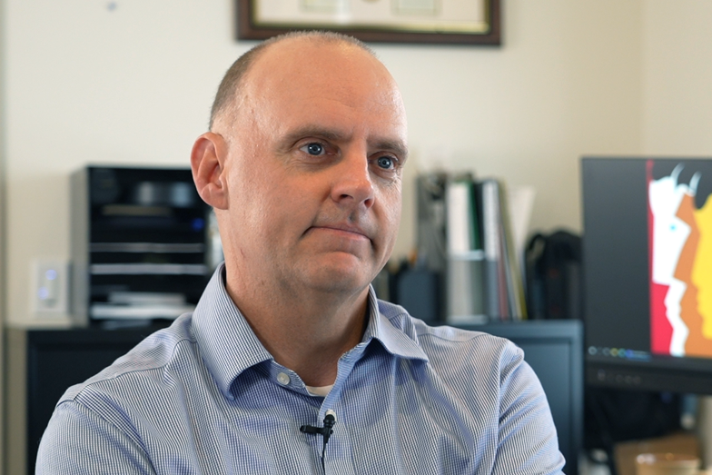
[[[253,45],[233,40],[232,4],[5,0],[7,321],[34,322],[31,260],[69,255],[69,173],[188,163],[223,71]],[[533,228],[579,229],[578,157],[643,148],[647,2],[503,4],[500,48],[375,45],[409,112],[409,174],[531,183]],[[411,200],[409,186],[399,253],[413,241]]]

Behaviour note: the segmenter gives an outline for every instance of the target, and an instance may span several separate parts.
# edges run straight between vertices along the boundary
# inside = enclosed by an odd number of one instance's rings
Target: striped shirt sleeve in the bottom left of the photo
[[[54,410],[37,453],[35,475],[155,474],[143,448],[75,401]]]

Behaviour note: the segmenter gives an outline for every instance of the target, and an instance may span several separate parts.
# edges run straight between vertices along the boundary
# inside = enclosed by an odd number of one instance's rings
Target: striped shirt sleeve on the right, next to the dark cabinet
[[[516,352],[501,372],[499,441],[492,474],[561,474],[564,457],[549,402],[523,352],[511,346]]]

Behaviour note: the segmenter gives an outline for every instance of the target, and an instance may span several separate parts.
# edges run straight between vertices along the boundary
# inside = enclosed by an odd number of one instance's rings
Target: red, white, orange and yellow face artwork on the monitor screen
[[[653,178],[647,163],[650,252],[650,349],[712,357],[712,200],[697,207],[697,172],[683,183],[677,164]],[[689,166],[689,165],[687,165]]]

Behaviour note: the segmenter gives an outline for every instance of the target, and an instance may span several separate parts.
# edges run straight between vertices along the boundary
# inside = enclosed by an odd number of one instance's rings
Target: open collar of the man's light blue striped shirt
[[[232,381],[242,371],[263,361],[271,361],[272,354],[264,348],[240,309],[232,302],[225,288],[224,269],[223,262],[213,273],[195,307],[193,332],[203,361],[220,391],[225,398],[232,400]],[[392,355],[428,361],[417,342],[381,314],[376,292],[370,287],[369,324],[361,342],[367,346],[372,340],[380,341]]]

